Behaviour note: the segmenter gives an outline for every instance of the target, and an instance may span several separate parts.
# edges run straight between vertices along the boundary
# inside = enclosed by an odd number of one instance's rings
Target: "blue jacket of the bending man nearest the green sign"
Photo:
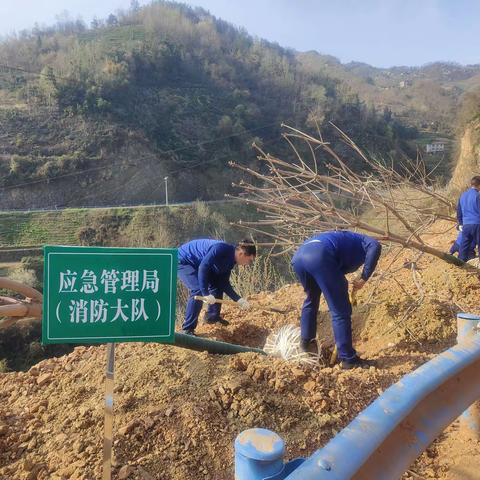
[[[202,238],[181,245],[178,263],[190,265],[198,272],[202,295],[209,294],[209,285],[220,287],[232,300],[240,298],[230,284],[230,272],[235,266],[235,246],[220,240]]]

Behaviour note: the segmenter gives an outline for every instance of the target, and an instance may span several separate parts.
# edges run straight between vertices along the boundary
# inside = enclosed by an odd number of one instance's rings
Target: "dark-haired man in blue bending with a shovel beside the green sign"
[[[182,325],[184,333],[194,335],[197,326],[202,301],[195,300],[196,295],[206,297],[206,323],[228,325],[220,317],[221,304],[215,303],[216,299],[223,298],[224,293],[240,308],[246,310],[250,307],[248,301],[241,298],[230,284],[230,273],[236,264],[251,264],[256,254],[256,247],[250,240],[243,240],[235,246],[220,240],[200,239],[179,247],[178,277],[190,291]]]

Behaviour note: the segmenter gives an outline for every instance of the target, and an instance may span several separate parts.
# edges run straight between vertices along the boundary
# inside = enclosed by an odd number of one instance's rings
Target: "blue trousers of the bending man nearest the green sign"
[[[185,320],[183,322],[183,330],[195,330],[198,322],[198,316],[202,309],[203,302],[201,300],[195,300],[195,295],[202,295],[200,285],[198,283],[198,270],[191,265],[178,265],[178,278],[188,288],[189,298],[187,301],[187,307],[185,310]],[[215,298],[223,297],[223,289],[215,284],[208,286],[208,293]],[[216,319],[220,316],[221,310],[220,303],[214,303],[208,306],[207,318]]]

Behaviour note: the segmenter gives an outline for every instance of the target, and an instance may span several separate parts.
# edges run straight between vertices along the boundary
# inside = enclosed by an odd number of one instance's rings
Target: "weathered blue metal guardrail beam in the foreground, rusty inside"
[[[398,479],[480,398],[480,337],[438,355],[388,388],[286,480]]]

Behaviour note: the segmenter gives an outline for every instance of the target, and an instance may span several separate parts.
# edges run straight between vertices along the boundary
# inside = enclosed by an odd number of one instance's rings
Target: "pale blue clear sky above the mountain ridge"
[[[141,5],[149,0],[139,0]],[[376,67],[480,64],[480,0],[189,0],[250,34]],[[0,35],[67,10],[87,23],[130,0],[0,0]]]

